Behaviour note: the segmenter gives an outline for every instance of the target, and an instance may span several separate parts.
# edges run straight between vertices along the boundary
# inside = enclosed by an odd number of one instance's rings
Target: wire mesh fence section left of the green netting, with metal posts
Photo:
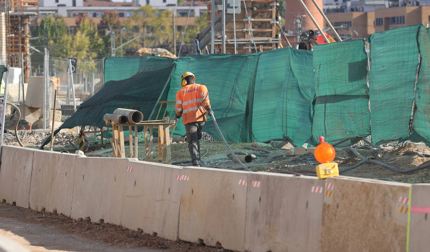
[[[49,52],[46,50],[44,67],[46,69],[44,72],[44,76],[46,76],[46,121],[52,120],[55,90],[57,90],[56,110],[57,113],[61,111],[61,119],[55,118],[55,121],[62,122],[73,115],[80,103],[83,103],[104,85],[103,58],[78,60],[49,57]],[[57,114],[55,116],[57,117]]]

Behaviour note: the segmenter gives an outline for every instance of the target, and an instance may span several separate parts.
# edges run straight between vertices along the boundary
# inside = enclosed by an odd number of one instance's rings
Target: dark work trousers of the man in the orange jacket
[[[200,165],[200,139],[202,139],[203,125],[206,121],[194,121],[185,124],[187,131],[188,150],[192,165]]]

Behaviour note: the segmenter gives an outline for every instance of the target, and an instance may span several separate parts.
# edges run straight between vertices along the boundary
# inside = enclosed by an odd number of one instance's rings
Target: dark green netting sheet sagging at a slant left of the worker
[[[148,120],[154,113],[159,100],[165,100],[163,91],[167,88],[174,65],[158,70],[142,68],[132,77],[121,81],[110,81],[100,91],[81,103],[77,111],[55,131],[80,125],[106,127],[104,114],[112,114],[117,108],[137,109]],[[49,143],[50,137],[42,147]]]

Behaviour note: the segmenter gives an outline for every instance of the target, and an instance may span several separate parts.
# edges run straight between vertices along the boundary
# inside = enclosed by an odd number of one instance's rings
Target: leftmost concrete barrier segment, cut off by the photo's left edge
[[[29,207],[34,149],[3,146],[0,167],[0,200]]]

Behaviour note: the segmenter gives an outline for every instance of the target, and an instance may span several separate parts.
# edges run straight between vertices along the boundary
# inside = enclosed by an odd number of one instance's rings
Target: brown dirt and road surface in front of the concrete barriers
[[[110,223],[74,220],[61,213],[40,213],[0,203],[0,236],[33,252],[222,252],[171,241]]]

